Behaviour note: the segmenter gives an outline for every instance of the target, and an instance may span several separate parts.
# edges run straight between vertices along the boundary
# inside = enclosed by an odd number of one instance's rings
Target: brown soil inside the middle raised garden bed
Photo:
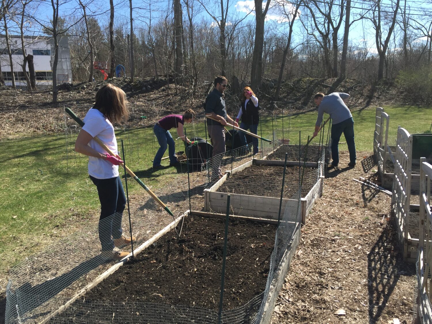
[[[303,168],[301,172],[303,172]],[[317,169],[305,168],[302,197],[305,197],[316,183],[317,172]],[[264,197],[280,197],[282,177],[282,166],[252,165],[226,179],[217,191]],[[283,197],[288,198],[298,190],[299,167],[286,167]]]

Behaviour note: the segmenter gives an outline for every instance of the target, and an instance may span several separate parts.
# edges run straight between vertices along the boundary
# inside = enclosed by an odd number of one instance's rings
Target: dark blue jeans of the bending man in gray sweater
[[[354,120],[352,117],[331,125],[331,156],[333,165],[339,163],[339,140],[340,136],[345,136],[346,145],[348,145],[349,162],[356,163],[356,143],[354,143]]]

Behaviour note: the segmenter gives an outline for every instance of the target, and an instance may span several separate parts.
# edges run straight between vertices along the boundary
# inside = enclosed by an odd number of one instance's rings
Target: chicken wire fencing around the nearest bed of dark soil
[[[186,172],[178,176],[183,177],[179,182],[187,184]],[[187,205],[187,189],[178,188],[177,194],[172,193],[172,188],[170,191],[169,194],[166,194],[167,191],[158,191],[156,194],[175,214],[177,213],[176,216],[181,216],[181,210],[185,210]],[[276,231],[275,249],[270,258],[266,290],[242,307],[223,311],[222,323],[262,322],[271,316],[268,314],[269,298],[271,297],[271,301],[276,297],[270,294],[270,290],[273,289],[274,294],[275,287],[282,285],[285,274],[283,271],[289,266],[299,241],[300,190],[290,199],[296,203],[287,205],[282,212],[280,226]],[[118,215],[111,216],[109,221],[114,221],[116,217]],[[123,218],[126,222],[127,217]],[[172,217],[164,213],[152,199],[143,202],[134,210],[131,218],[133,235],[137,236],[135,246],[139,246],[172,222]],[[72,301],[71,298],[77,291],[85,290],[98,274],[112,265],[107,264],[104,255],[98,251],[99,241],[94,227],[94,223],[89,224],[88,228],[58,241],[10,272],[6,288],[6,323],[33,323],[45,320],[50,323],[218,321],[217,312],[199,307],[145,302],[87,301],[85,296]],[[127,226],[124,224],[123,228],[127,229]],[[130,251],[129,247],[123,249]],[[286,254],[286,251],[289,253]],[[267,298],[269,294],[270,297]],[[50,318],[53,312],[69,301],[69,308]]]

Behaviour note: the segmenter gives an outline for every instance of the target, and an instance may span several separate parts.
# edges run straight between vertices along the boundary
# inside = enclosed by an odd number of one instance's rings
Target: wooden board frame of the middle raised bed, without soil
[[[275,160],[258,160],[253,159],[248,161],[231,171],[226,171],[225,175],[213,184],[209,189],[204,189],[204,210],[206,212],[218,212],[221,213],[226,209],[226,196],[228,193],[218,192],[219,187],[226,181],[229,176],[233,176],[237,172],[243,171],[245,168],[251,165],[269,165],[269,166],[283,166],[285,161]],[[287,166],[303,165],[302,162],[298,161],[287,161]],[[306,216],[312,210],[315,201],[322,196],[324,187],[324,175],[323,167],[321,162],[306,162],[307,167],[317,167],[320,175],[318,181],[314,184],[312,189],[308,192],[306,197],[301,198],[301,215],[302,224],[306,223]],[[231,194],[231,211],[235,215],[257,217],[263,215],[263,218],[278,219],[280,210],[280,197],[263,197],[253,196],[246,194]],[[286,204],[290,203],[295,206],[297,200],[283,198],[282,209],[285,210]],[[265,215],[265,216],[264,216]]]

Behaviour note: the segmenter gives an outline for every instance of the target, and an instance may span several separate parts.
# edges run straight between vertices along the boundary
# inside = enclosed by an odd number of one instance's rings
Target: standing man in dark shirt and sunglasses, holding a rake
[[[207,128],[209,130],[210,140],[213,145],[213,175],[212,178],[219,179],[222,177],[220,168],[223,155],[225,153],[225,128],[227,121],[238,127],[236,121],[226,113],[225,99],[223,92],[226,89],[228,80],[224,76],[216,76],[214,80],[214,89],[207,95],[205,112],[206,115],[216,119],[207,118]]]

